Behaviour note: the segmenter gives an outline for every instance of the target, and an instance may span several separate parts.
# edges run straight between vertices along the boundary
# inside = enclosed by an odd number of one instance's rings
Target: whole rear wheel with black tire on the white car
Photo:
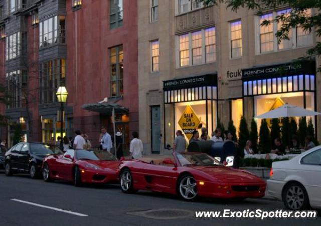
[[[288,210],[305,210],[310,206],[309,197],[304,186],[297,182],[285,185],[282,192],[282,200]]]

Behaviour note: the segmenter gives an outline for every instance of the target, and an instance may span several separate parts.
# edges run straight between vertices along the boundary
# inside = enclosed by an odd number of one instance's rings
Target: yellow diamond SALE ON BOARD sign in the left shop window
[[[180,125],[185,136],[190,140],[192,138],[192,133],[200,124],[200,119],[194,112],[193,108],[188,105],[186,106],[178,124]]]

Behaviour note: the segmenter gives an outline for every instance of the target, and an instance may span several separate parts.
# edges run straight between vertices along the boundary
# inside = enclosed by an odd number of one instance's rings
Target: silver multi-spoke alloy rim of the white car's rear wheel
[[[301,187],[291,186],[286,192],[286,202],[293,210],[301,209],[305,200],[305,195]]]

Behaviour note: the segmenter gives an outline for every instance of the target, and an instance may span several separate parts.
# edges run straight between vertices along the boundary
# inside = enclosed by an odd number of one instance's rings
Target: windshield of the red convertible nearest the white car
[[[182,166],[185,165],[219,165],[224,166],[222,163],[212,158],[205,153],[177,153],[177,159]]]

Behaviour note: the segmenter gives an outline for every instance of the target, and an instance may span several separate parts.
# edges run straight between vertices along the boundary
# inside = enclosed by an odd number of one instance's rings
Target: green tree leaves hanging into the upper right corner
[[[276,10],[280,6],[287,6],[290,11],[287,14],[278,15],[273,20],[282,26],[279,26],[275,33],[278,41],[289,39],[288,34],[292,28],[301,27],[304,31],[312,31],[314,28],[317,37],[321,36],[321,1],[319,0],[199,0],[205,6],[218,5],[223,3],[232,11],[237,12],[240,8],[254,10],[258,15],[262,12]],[[306,10],[315,8],[316,12],[312,15],[306,14]],[[264,20],[261,26],[266,26],[273,21]],[[298,60],[310,59],[311,57],[321,55],[321,42],[316,42],[313,47],[307,50],[306,56]],[[321,68],[319,68],[320,70]]]

